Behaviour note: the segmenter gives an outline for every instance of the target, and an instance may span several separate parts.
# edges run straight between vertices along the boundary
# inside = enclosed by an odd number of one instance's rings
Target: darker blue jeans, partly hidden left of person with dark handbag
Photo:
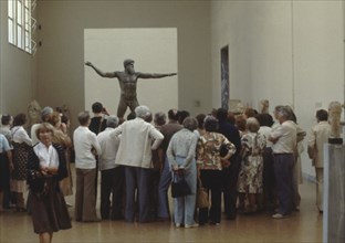
[[[169,168],[168,158],[164,160],[164,166],[158,183],[158,209],[157,216],[160,219],[169,219],[169,203],[168,203],[168,189],[171,183],[171,171]]]

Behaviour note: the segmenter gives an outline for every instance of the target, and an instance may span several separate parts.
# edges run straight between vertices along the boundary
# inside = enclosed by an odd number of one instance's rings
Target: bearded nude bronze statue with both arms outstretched
[[[160,78],[166,76],[174,76],[177,74],[177,73],[150,74],[135,72],[133,60],[125,60],[124,61],[125,70],[115,72],[102,72],[101,70],[95,67],[91,62],[85,62],[85,65],[94,68],[94,71],[102,77],[117,77],[121,88],[121,97],[117,107],[117,117],[119,119],[124,118],[127,106],[130,108],[132,112],[134,112],[135,107],[139,106],[136,93],[136,85],[138,78]]]

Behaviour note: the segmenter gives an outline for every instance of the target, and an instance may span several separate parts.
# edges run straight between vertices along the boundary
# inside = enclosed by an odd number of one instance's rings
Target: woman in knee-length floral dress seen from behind
[[[248,134],[241,138],[242,162],[238,181],[238,191],[240,193],[240,209],[252,213],[262,207],[262,172],[263,172],[263,151],[266,145],[264,135],[258,134],[260,124],[254,117],[247,119]],[[244,208],[244,199],[248,194],[249,205]]]

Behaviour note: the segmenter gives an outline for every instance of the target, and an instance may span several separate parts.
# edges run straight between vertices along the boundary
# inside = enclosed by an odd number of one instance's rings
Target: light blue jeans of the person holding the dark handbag
[[[184,165],[185,158],[176,157],[177,163]],[[194,160],[185,170],[185,179],[191,190],[191,194],[174,199],[174,221],[179,224],[195,224],[194,214],[197,199],[197,163]]]

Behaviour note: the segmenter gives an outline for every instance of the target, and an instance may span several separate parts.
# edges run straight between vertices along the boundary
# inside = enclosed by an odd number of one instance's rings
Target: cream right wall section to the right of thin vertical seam
[[[341,1],[307,3],[293,4],[294,91],[300,124],[310,133],[317,109],[344,103],[344,11]],[[302,161],[303,171],[314,172],[306,152]]]

